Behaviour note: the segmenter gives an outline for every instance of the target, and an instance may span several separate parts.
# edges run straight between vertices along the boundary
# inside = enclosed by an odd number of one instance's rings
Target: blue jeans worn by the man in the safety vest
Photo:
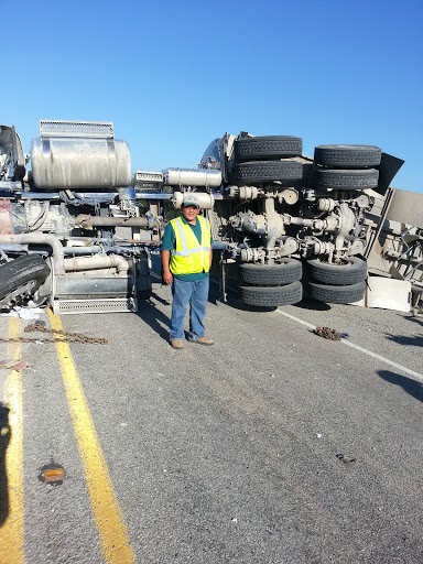
[[[204,276],[196,282],[186,282],[173,276],[172,282],[172,319],[169,339],[183,339],[186,306],[189,302],[189,340],[204,336],[203,319],[206,315],[209,278]]]

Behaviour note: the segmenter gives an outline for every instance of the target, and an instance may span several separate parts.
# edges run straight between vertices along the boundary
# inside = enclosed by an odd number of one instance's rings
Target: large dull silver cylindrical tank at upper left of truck
[[[39,189],[115,189],[131,184],[131,155],[126,141],[35,138],[31,162]]]

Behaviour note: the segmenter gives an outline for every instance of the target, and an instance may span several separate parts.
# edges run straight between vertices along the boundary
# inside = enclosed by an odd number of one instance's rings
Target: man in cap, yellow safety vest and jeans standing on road
[[[175,349],[184,348],[182,339],[188,302],[188,340],[213,345],[213,340],[204,336],[203,323],[213,258],[210,224],[198,215],[199,200],[191,192],[183,198],[181,213],[181,217],[166,225],[162,242],[163,281],[172,284],[173,295],[169,340]]]

